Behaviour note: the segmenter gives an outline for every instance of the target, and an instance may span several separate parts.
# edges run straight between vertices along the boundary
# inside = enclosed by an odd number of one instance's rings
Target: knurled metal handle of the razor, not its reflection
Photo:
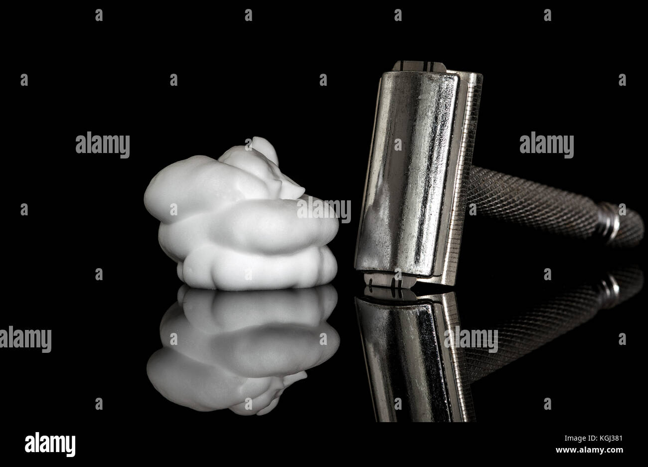
[[[487,168],[470,168],[468,204],[478,216],[513,222],[573,238],[602,237],[611,247],[634,247],[643,238],[641,216],[624,216],[608,203]]]

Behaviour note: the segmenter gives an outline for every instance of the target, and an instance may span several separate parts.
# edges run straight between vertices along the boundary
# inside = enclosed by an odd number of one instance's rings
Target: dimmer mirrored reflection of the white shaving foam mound
[[[338,350],[340,337],[326,323],[337,301],[330,285],[246,292],[182,286],[162,318],[164,347],[148,360],[148,378],[185,407],[264,415],[305,370]]]

